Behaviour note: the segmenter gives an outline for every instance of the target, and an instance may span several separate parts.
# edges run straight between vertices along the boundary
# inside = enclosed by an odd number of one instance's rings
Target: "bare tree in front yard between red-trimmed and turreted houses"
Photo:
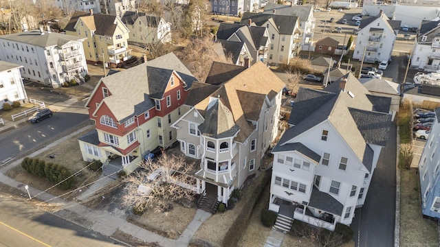
[[[127,182],[128,193],[122,198],[124,205],[133,206],[139,211],[147,207],[155,207],[162,211],[164,205],[170,202],[191,201],[195,192],[188,185],[195,185],[195,179],[190,177],[192,165],[183,156],[163,153],[157,161],[140,163],[140,172],[133,172],[124,178]],[[158,172],[157,179],[147,180],[149,174]],[[146,191],[138,193],[139,185],[144,185]]]

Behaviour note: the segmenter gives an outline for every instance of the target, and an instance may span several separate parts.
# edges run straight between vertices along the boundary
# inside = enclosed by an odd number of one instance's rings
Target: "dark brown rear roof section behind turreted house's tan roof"
[[[223,84],[224,82],[228,82],[228,80],[234,78],[235,75],[243,72],[245,69],[248,68],[214,61],[212,62],[211,69],[209,70],[205,83],[212,85]]]

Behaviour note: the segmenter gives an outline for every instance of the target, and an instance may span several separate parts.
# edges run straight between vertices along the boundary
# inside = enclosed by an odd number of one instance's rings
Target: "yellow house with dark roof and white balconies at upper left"
[[[118,16],[75,12],[65,27],[67,34],[84,39],[85,58],[91,62],[119,64],[131,58],[129,29]]]

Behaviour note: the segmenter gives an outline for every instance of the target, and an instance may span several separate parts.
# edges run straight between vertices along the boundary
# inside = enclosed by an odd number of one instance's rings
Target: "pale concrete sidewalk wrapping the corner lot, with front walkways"
[[[36,156],[37,154],[47,150],[53,145],[57,145],[58,143],[61,143],[66,139],[72,138],[76,134],[85,131],[87,128],[90,128],[90,126],[86,126],[84,128],[81,128],[80,130],[77,130],[76,132],[72,132],[71,134],[68,134],[63,138],[54,141],[54,143],[51,143],[47,147],[42,148],[41,150],[38,150],[30,154],[29,156],[30,157]],[[4,175],[6,172],[8,172],[9,169],[12,169],[17,165],[20,165],[21,161],[23,161],[23,158],[20,158],[19,160],[14,161],[10,165],[3,167],[3,169],[0,169],[0,181],[5,185],[23,191],[24,195],[28,195],[28,192],[25,190],[25,187],[23,186],[22,183]],[[102,187],[104,187],[106,184],[107,183],[97,183],[96,185],[92,185],[90,189],[83,192],[83,195],[80,196],[81,199],[85,200],[87,197],[92,196],[94,194],[94,191],[98,191],[99,189],[102,189]],[[136,226],[135,224],[131,224],[130,222],[126,221],[125,217],[122,216],[118,217],[107,211],[89,209],[78,202],[67,202],[63,200],[63,198],[59,198],[58,196],[54,196],[50,193],[40,191],[39,189],[35,189],[33,187],[29,187],[29,192],[31,196],[35,196],[36,198],[42,200],[43,202],[47,202],[50,204],[57,204],[58,206],[62,207],[62,209],[56,211],[54,215],[57,215],[58,217],[62,217],[63,219],[68,220],[69,222],[72,222],[79,226],[83,226],[87,229],[90,229],[91,231],[96,231],[108,237],[111,237],[112,235],[120,231],[122,233],[125,233],[126,235],[131,235],[141,241],[155,242],[159,244],[159,246],[164,246],[164,247],[188,246],[188,244],[190,243],[190,239],[192,238],[192,236],[195,235],[197,229],[201,226],[201,224],[203,224],[205,220],[207,220],[211,216],[210,213],[202,211],[201,209],[197,209],[194,219],[187,226],[184,233],[180,235],[179,239],[174,240],[174,239],[168,239],[151,231],[145,230],[144,228],[141,228],[140,226]],[[126,245],[129,246],[129,244]]]

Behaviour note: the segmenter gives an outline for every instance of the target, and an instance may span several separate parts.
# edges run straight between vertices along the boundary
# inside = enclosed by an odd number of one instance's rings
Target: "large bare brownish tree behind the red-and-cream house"
[[[204,82],[212,61],[232,64],[230,59],[219,56],[219,54],[214,51],[214,45],[214,41],[208,36],[192,38],[188,46],[180,52],[177,52],[176,56],[185,64],[195,78]]]

